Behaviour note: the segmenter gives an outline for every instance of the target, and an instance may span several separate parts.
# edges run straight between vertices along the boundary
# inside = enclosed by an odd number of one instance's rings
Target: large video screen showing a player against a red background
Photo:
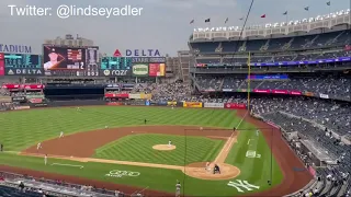
[[[52,45],[44,45],[43,47],[45,71],[86,69],[86,48]]]

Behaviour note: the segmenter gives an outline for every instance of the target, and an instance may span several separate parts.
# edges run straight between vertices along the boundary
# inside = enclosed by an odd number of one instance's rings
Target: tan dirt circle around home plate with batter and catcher
[[[217,163],[220,169],[220,174],[213,174],[214,163],[211,163],[210,169],[206,170],[206,162],[191,163],[185,166],[185,173],[188,176],[192,176],[199,179],[231,179],[240,174],[240,170],[234,165],[226,163]]]

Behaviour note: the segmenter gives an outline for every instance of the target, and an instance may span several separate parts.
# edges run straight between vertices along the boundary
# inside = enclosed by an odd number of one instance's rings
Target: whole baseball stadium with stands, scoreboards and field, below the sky
[[[349,196],[350,15],[0,53],[0,196]]]

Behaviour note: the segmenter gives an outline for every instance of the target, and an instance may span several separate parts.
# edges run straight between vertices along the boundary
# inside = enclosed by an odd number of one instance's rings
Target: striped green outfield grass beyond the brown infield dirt
[[[7,150],[21,151],[37,142],[65,135],[110,127],[148,125],[194,125],[233,128],[235,111],[166,107],[76,107],[0,113],[0,140]],[[4,139],[4,140],[3,140]]]

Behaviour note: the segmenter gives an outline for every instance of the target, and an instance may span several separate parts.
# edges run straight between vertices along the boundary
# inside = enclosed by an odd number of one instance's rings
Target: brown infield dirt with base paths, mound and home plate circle
[[[179,136],[201,136],[211,139],[225,140],[226,143],[222,148],[219,154],[215,161],[212,162],[223,167],[220,174],[213,174],[205,171],[204,165],[199,163],[190,164],[186,166],[167,165],[167,164],[155,164],[155,163],[143,163],[143,162],[128,162],[128,161],[115,161],[104,159],[93,159],[94,150],[113,142],[122,137],[138,134],[167,134],[167,135],[179,135]],[[213,136],[213,135],[216,136]],[[212,136],[210,136],[212,135]],[[101,130],[93,130],[87,132],[79,132],[75,135],[65,136],[64,138],[56,138],[48,141],[42,142],[43,149],[37,150],[36,146],[33,146],[22,152],[24,155],[43,157],[48,154],[49,158],[59,158],[79,162],[100,162],[100,163],[116,163],[135,166],[149,166],[159,169],[180,170],[189,176],[200,179],[230,179],[235,178],[240,174],[240,170],[236,166],[225,164],[224,161],[227,158],[230,148],[237,141],[237,131],[215,128],[203,128],[200,127],[184,127],[184,126],[140,126],[140,127],[121,127],[121,128],[106,128]],[[83,140],[82,140],[83,139]],[[77,147],[79,142],[79,147]],[[151,147],[150,147],[151,148]],[[152,149],[157,150],[173,150],[176,146],[169,148],[168,144],[156,144]],[[204,162],[205,163],[205,162]]]

